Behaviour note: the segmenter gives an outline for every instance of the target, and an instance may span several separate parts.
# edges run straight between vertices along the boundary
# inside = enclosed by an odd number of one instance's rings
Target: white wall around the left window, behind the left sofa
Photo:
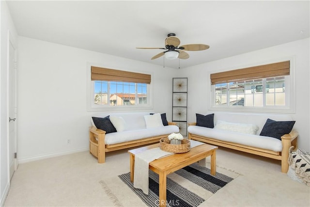
[[[168,120],[172,118],[175,69],[21,36],[18,44],[20,162],[88,149],[90,117],[97,113],[87,111],[88,63],[150,73],[152,111],[166,112]]]

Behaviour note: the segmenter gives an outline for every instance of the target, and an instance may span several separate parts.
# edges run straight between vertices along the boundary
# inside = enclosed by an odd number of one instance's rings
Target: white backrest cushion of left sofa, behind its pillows
[[[93,117],[106,117],[106,116],[121,116],[125,121],[125,129],[144,129],[146,128],[144,115],[150,115],[154,112],[124,112],[124,113],[98,113]],[[92,125],[93,119],[91,118]],[[95,126],[94,126],[95,127]]]

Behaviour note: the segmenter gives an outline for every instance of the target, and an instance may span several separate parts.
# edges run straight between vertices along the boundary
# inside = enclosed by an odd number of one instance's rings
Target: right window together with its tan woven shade
[[[212,108],[230,111],[292,111],[290,62],[211,74]]]

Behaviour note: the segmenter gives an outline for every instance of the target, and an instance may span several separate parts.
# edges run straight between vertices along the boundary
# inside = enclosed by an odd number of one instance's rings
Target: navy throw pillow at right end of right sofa
[[[295,121],[275,121],[267,119],[260,135],[281,140],[281,136],[292,131],[294,124]]]

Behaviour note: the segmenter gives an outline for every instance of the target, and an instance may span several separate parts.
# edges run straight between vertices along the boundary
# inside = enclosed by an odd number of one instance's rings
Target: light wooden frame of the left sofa
[[[174,122],[168,122],[168,125],[176,125]],[[106,162],[106,152],[111,152],[120,149],[126,149],[130,147],[149,145],[152,143],[159,143],[161,138],[168,137],[169,134],[148,137],[139,140],[133,140],[124,143],[105,144],[106,131],[98,129],[96,127],[90,127],[89,129],[89,151],[98,159],[98,163]]]

